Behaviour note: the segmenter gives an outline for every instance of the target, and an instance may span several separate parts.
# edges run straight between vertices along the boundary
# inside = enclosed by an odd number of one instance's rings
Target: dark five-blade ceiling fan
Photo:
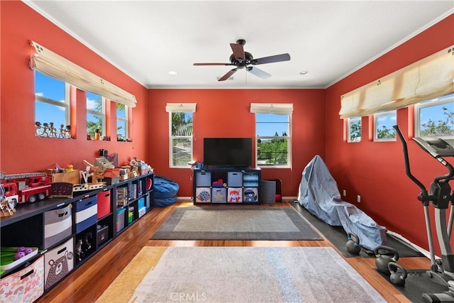
[[[272,62],[282,62],[290,60],[290,55],[285,53],[281,55],[273,55],[269,57],[261,57],[258,59],[254,59],[253,55],[248,52],[244,51],[243,45],[246,44],[246,41],[243,39],[237,40],[236,43],[230,43],[230,47],[233,50],[233,54],[230,56],[229,60],[230,63],[194,63],[194,65],[234,65],[236,66],[233,70],[230,70],[223,75],[218,81],[224,81],[231,77],[231,75],[235,74],[237,70],[241,70],[245,68],[251,74],[262,78],[267,79],[271,77],[270,74],[258,69],[255,66],[250,65],[260,65],[265,63],[272,63]]]

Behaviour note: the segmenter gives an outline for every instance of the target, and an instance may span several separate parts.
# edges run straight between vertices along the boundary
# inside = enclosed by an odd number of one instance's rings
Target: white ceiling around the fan
[[[454,11],[452,0],[25,2],[148,88],[326,88]],[[259,65],[268,79],[239,70],[224,82],[233,67],[192,65],[230,62],[238,39],[255,58],[291,60]]]

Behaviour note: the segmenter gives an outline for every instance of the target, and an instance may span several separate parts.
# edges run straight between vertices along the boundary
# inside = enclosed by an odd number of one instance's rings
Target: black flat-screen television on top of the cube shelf
[[[204,165],[250,167],[252,138],[204,138]]]

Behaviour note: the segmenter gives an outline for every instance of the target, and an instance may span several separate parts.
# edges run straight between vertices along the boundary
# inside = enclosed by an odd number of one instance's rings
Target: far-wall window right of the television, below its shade
[[[255,133],[257,165],[289,167],[290,115],[256,113]]]

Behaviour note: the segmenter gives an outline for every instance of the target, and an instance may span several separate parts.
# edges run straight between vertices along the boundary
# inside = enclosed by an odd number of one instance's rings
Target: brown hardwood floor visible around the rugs
[[[266,206],[290,206],[287,202]],[[39,302],[94,302],[143,246],[331,246],[329,241],[165,241],[150,240],[157,228],[176,207],[194,207],[192,202],[177,202],[152,209],[142,219],[111,241],[63,282],[45,294]],[[240,206],[236,206],[240,207]],[[342,254],[341,254],[342,255]],[[375,271],[374,258],[345,258],[387,302],[409,302],[404,295]],[[428,268],[427,258],[400,258],[405,268]]]

